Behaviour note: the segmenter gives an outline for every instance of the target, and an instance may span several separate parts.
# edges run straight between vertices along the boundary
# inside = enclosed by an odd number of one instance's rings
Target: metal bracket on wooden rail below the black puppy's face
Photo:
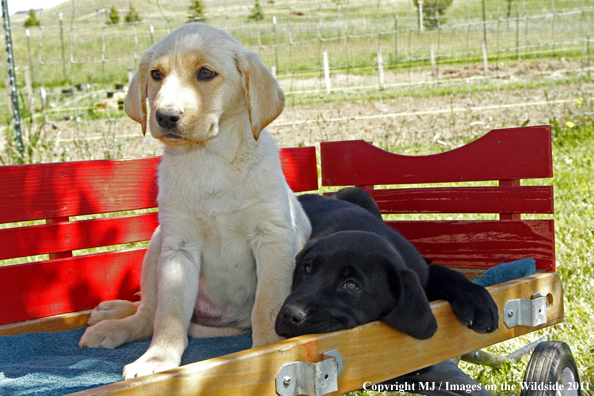
[[[338,390],[342,356],[336,349],[324,353],[319,363],[292,362],[276,375],[276,393],[280,396],[321,396]]]

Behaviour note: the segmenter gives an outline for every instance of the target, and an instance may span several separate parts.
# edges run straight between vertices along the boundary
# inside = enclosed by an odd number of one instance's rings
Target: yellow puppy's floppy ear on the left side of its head
[[[148,49],[142,54],[138,71],[130,81],[128,93],[124,100],[126,114],[142,126],[142,134],[146,135],[146,98],[148,88],[148,67],[153,52]]]

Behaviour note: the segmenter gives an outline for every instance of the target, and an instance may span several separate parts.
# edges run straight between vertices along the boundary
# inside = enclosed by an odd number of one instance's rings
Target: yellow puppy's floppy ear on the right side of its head
[[[237,68],[245,89],[245,99],[252,124],[252,134],[258,140],[260,132],[280,115],[285,95],[276,79],[258,54],[244,51],[237,54]]]

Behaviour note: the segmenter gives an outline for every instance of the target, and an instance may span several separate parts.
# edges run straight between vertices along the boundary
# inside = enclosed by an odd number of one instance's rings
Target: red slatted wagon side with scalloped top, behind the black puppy
[[[451,267],[488,268],[534,258],[555,270],[553,220],[521,214],[553,213],[551,186],[520,186],[520,179],[550,178],[549,126],[493,130],[458,149],[404,156],[365,141],[321,144],[322,185],[376,185],[499,181],[489,187],[392,188],[370,191],[384,214],[497,213],[498,220],[388,221],[425,257]]]

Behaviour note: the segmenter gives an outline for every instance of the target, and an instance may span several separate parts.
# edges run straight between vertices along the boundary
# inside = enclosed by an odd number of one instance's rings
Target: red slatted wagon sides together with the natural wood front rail
[[[553,220],[521,218],[553,213],[552,187],[520,184],[520,179],[552,177],[550,136],[549,127],[494,130],[456,150],[419,157],[389,153],[364,141],[321,144],[322,185],[365,188],[382,213],[479,214],[477,219],[389,221],[435,263],[475,276],[501,262],[536,260],[542,272],[488,288],[500,309],[496,332],[479,335],[466,329],[448,303],[437,301],[432,308],[439,329],[429,340],[414,340],[373,322],[83,394],[167,394],[171,386],[179,394],[196,394],[197,389],[209,395],[274,394],[283,364],[316,363],[332,349],[343,358],[338,390],[344,393],[561,322]],[[295,192],[318,190],[313,147],[283,149],[280,155]],[[82,327],[89,309],[99,302],[136,298],[145,248],[121,245],[147,241],[157,226],[154,212],[130,211],[156,207],[158,162],[147,158],[0,167],[0,223],[7,223],[0,229],[0,260],[42,255],[33,262],[0,267],[0,335]],[[468,185],[475,181],[497,185]],[[425,185],[459,182],[464,185]],[[423,186],[401,187],[406,184]],[[392,187],[384,188],[388,185]],[[106,213],[110,215],[93,218]],[[484,220],[481,216],[488,213],[498,218]],[[88,250],[96,248],[104,251]],[[546,322],[506,326],[505,304],[537,293],[547,299]]]

